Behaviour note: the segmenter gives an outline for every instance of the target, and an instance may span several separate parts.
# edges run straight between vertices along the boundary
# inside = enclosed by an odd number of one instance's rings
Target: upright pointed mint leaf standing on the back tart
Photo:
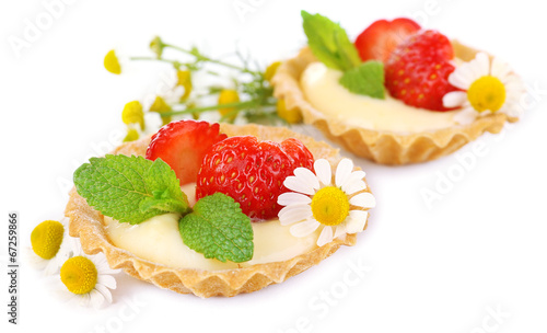
[[[361,58],[346,31],[329,19],[302,11],[304,33],[312,53],[329,68],[349,70],[361,64]]]

